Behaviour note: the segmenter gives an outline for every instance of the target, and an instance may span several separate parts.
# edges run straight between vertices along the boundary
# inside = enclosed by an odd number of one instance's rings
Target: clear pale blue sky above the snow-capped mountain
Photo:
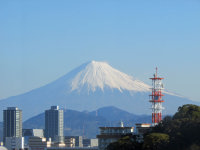
[[[1,0],[0,98],[90,60],[200,101],[199,0]]]

